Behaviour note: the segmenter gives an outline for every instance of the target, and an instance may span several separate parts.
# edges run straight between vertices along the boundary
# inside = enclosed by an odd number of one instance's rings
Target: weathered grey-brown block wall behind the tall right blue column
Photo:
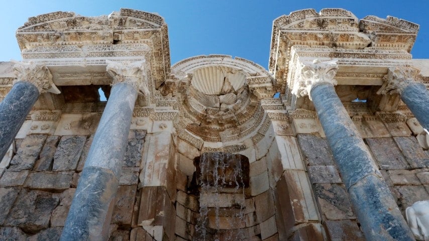
[[[418,144],[405,123],[394,124],[400,128],[379,124],[371,135],[362,136],[404,214],[414,202],[429,199],[429,150]],[[365,240],[326,139],[318,134],[298,134],[297,139],[326,234],[331,240]]]

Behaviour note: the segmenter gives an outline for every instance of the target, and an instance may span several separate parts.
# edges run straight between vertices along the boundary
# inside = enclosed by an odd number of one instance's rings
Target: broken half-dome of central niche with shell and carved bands
[[[257,132],[272,97],[273,79],[261,66],[226,55],[196,56],[173,65],[163,94],[178,97],[178,130],[204,142],[231,142]],[[189,142],[189,140],[187,140]]]

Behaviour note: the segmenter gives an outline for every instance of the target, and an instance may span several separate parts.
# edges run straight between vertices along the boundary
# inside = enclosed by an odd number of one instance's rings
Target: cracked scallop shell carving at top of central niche
[[[204,94],[219,95],[237,91],[245,81],[246,76],[242,71],[228,67],[209,66],[195,70],[191,84]]]

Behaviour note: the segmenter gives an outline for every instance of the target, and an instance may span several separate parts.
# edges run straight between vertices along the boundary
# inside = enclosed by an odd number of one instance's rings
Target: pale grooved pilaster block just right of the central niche
[[[301,154],[299,153],[298,142],[295,137],[276,136],[275,143],[277,144],[277,150],[280,154],[278,155],[278,158],[280,158],[283,170],[305,170],[305,165],[301,158]],[[270,149],[270,153],[272,153],[273,156],[271,156],[271,154],[267,156],[268,163],[270,158],[272,163],[275,162],[277,150],[274,149],[274,146],[275,145]]]

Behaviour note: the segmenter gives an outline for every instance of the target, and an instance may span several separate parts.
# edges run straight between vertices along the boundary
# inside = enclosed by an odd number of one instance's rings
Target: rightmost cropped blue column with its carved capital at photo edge
[[[377,94],[400,94],[402,101],[429,135],[429,91],[423,83],[415,81],[419,72],[409,66],[390,67]]]

